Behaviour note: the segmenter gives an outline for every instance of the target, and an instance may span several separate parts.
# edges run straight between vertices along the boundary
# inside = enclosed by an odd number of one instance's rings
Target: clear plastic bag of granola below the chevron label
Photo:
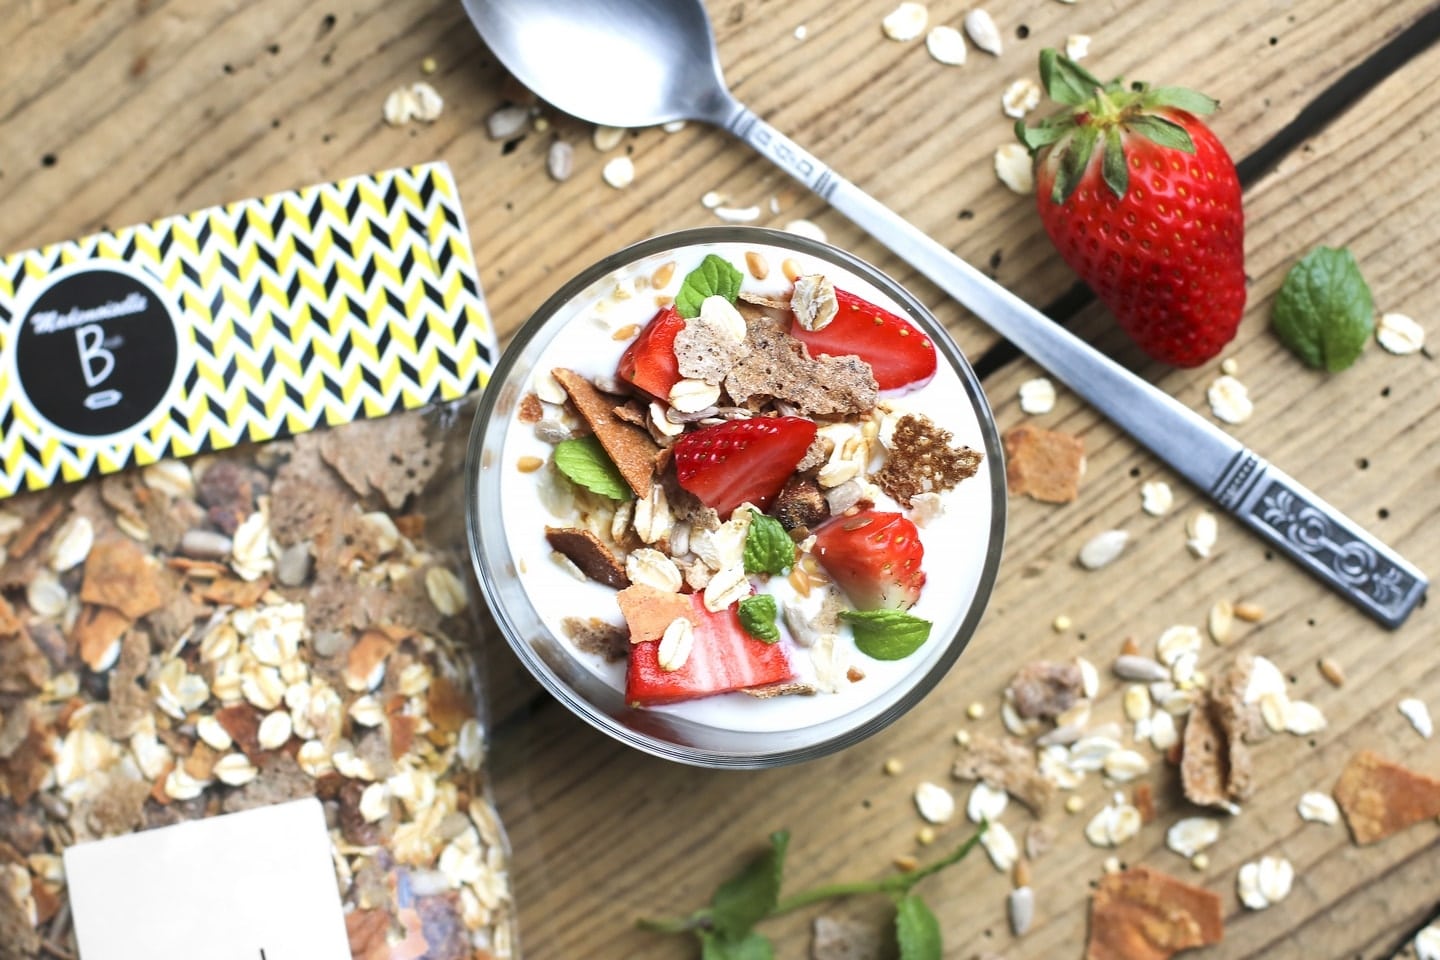
[[[68,846],[311,796],[356,957],[518,956],[468,422],[397,413],[0,501],[0,960],[76,956]]]

